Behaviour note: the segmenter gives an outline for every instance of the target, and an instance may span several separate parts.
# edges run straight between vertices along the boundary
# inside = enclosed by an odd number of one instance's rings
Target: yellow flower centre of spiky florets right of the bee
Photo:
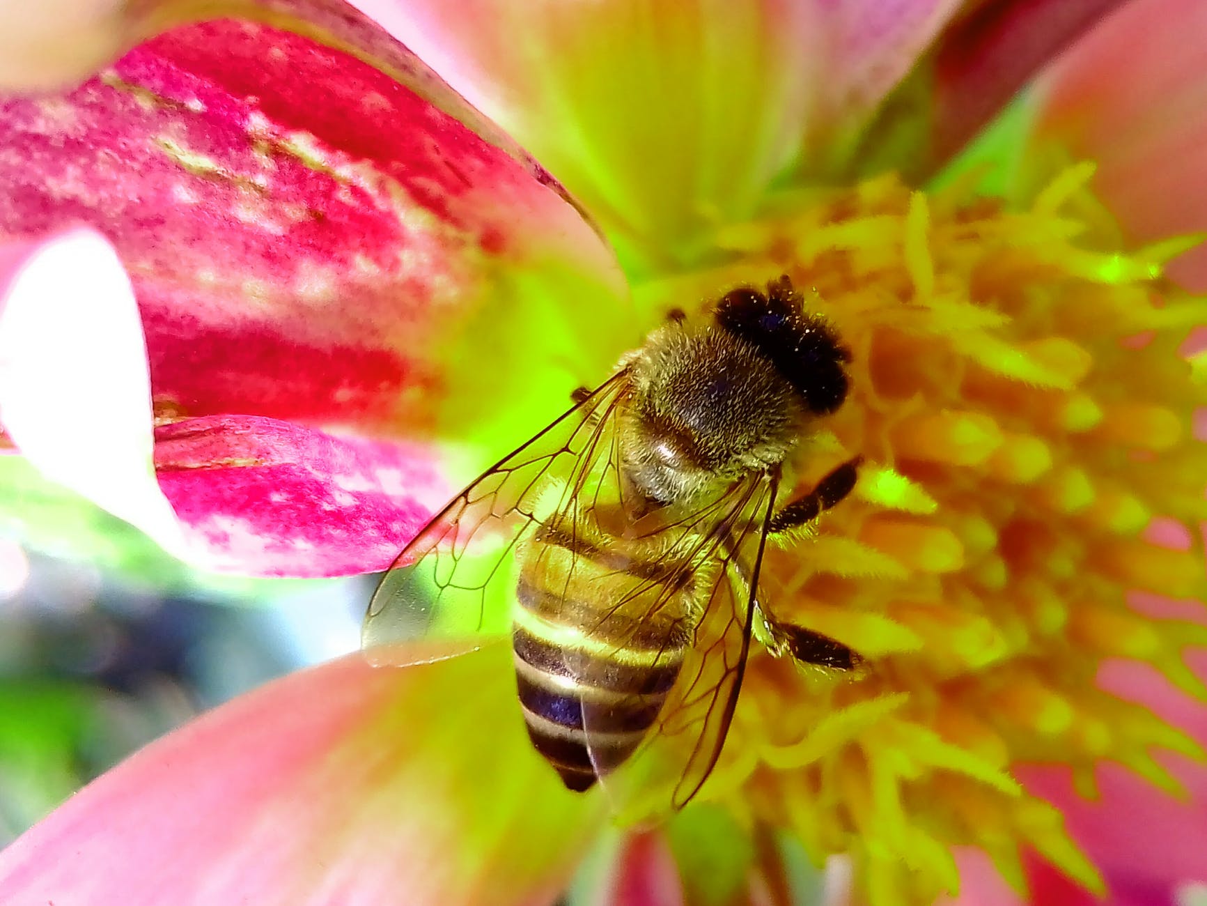
[[[1020,889],[1030,848],[1102,893],[1015,768],[1063,765],[1092,792],[1109,760],[1177,791],[1161,750],[1202,757],[1096,683],[1133,658],[1207,697],[1183,663],[1207,627],[1129,606],[1207,592],[1205,388],[1183,348],[1207,304],[1161,277],[1186,243],[1124,248],[1091,174],[1014,207],[892,176],[820,191],[722,231],[718,269],[643,290],[657,309],[786,273],[852,352],[835,442],[807,451],[797,490],[853,455],[859,483],[764,570],[777,618],[864,661],[829,675],[752,655],[702,795],[818,864],[850,854],[877,906],[956,893],[960,846]]]

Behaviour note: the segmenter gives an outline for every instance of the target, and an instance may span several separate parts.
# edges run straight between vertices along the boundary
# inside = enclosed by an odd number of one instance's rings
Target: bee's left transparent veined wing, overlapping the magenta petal
[[[365,615],[361,647],[371,663],[438,661],[508,631],[514,596],[505,580],[512,574],[512,554],[537,523],[538,499],[550,482],[565,481],[564,507],[583,476],[611,457],[616,402],[626,374],[613,374],[483,472],[402,550]],[[403,644],[416,639],[435,644]]]

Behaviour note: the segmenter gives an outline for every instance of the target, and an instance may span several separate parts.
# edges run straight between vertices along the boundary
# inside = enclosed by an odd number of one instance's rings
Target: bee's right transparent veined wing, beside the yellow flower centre
[[[646,817],[686,806],[712,773],[733,721],[750,651],[754,588],[770,527],[776,481],[758,476],[735,486],[711,522],[693,559],[710,563],[707,586],[699,596],[700,617],[683,652],[675,685],[641,748],[612,771],[607,731],[617,708],[583,701],[587,748],[600,784],[622,819]],[[751,582],[737,563],[751,564]],[[677,657],[667,650],[666,661]],[[628,703],[624,710],[635,710]]]

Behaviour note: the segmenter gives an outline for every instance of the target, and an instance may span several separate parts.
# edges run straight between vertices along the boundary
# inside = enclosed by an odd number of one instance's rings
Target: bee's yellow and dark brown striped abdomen
[[[529,737],[572,790],[632,755],[690,638],[690,570],[591,534],[546,527],[526,545],[513,627]]]

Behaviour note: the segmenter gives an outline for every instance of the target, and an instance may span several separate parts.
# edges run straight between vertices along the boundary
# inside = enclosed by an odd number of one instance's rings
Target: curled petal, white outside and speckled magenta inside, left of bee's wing
[[[0,243],[0,425],[47,477],[168,551],[246,575],[384,569],[451,493],[418,443],[256,416],[154,430],[129,280],[84,230]]]

